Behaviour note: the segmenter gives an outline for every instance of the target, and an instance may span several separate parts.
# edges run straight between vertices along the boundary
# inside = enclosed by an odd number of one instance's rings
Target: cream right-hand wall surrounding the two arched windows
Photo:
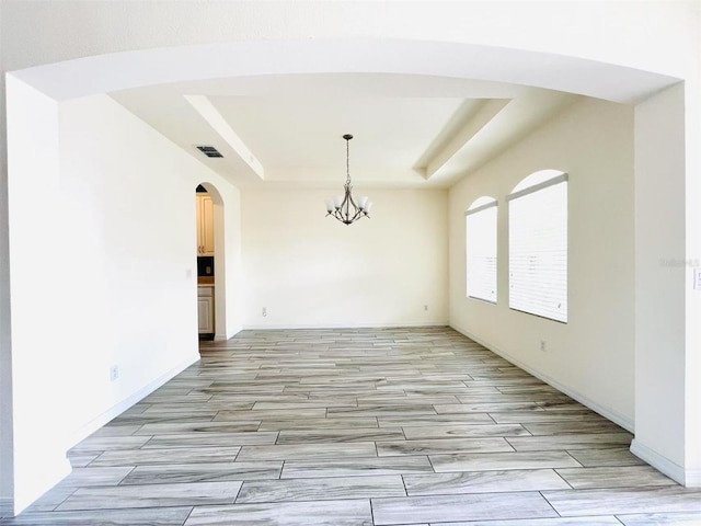
[[[542,169],[570,175],[568,323],[508,308],[505,202]],[[498,201],[498,304],[466,298],[464,211]],[[450,191],[450,323],[632,427],[633,111],[584,99]],[[540,351],[545,341],[547,351]]]

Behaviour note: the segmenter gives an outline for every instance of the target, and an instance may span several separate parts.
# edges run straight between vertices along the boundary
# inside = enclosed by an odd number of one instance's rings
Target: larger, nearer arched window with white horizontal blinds
[[[512,309],[567,322],[567,175],[543,170],[508,199]]]

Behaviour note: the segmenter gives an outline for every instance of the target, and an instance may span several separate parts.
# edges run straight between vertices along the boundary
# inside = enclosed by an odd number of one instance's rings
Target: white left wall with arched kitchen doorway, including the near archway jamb
[[[108,96],[10,87],[19,512],[66,474],[67,448],[198,359],[198,183],[221,191],[225,251],[240,235],[238,191]]]

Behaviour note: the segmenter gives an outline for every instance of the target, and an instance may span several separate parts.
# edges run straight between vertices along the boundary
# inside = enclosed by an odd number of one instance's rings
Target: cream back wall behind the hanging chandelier
[[[324,217],[342,185],[242,191],[244,324],[446,323],[447,192],[358,187],[372,217],[346,226]]]

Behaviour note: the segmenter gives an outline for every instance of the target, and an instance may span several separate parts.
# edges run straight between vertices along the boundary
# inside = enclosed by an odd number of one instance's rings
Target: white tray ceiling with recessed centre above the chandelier
[[[239,186],[448,187],[578,95],[399,73],[257,76],[111,95]],[[215,146],[222,159],[195,148]]]

